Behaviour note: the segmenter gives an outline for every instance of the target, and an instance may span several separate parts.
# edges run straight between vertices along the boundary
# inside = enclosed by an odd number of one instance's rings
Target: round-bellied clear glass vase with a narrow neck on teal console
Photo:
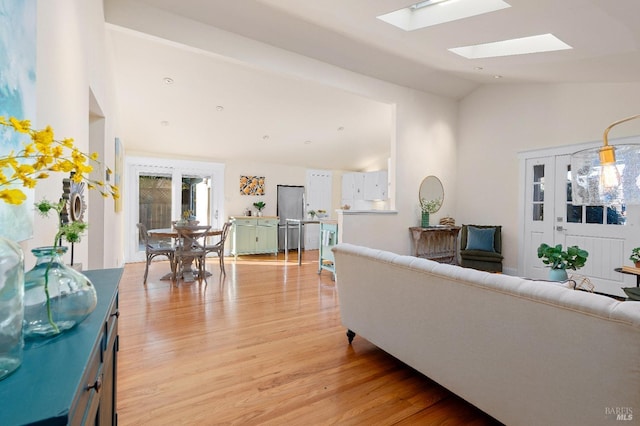
[[[51,337],[82,322],[96,307],[96,289],[89,279],[65,265],[66,247],[38,247],[36,266],[25,274],[24,336]]]

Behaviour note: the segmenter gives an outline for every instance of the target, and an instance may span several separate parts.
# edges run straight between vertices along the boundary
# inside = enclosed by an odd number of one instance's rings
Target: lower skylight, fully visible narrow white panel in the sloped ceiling
[[[525,55],[528,53],[554,52],[573,49],[553,34],[541,34],[531,37],[496,41],[449,49],[467,59],[496,58],[499,56]]]

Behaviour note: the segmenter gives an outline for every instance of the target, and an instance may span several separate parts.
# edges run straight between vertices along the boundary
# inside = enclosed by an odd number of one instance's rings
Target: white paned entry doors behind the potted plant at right
[[[541,243],[577,245],[589,252],[589,258],[569,274],[587,277],[595,291],[606,294],[624,296],[621,287],[635,285],[635,277],[615,268],[629,264],[631,249],[639,245],[637,207],[574,205],[568,154],[527,159],[524,192],[524,276],[547,279],[548,268],[537,257]]]

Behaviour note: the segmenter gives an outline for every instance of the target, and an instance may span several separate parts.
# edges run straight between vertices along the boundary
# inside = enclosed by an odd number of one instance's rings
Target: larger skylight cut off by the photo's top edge
[[[428,0],[377,18],[405,31],[413,31],[507,7],[511,6],[502,0]]]

